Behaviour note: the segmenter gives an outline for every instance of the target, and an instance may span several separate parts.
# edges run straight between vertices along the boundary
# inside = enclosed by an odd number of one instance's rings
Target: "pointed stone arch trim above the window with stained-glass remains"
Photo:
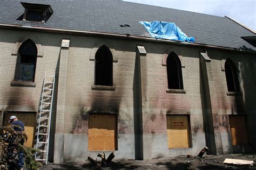
[[[33,34],[28,34],[28,35],[22,37],[21,39],[19,39],[19,40],[15,43],[14,47],[12,48],[11,54],[12,54],[12,55],[17,55],[17,54],[18,54],[19,47],[22,45],[23,42],[25,42],[25,41],[28,40],[28,39],[31,39],[31,40],[36,44],[36,47],[37,47],[37,56],[42,57],[42,56],[43,56],[43,49],[42,49],[41,42],[40,42],[35,36],[33,36]]]

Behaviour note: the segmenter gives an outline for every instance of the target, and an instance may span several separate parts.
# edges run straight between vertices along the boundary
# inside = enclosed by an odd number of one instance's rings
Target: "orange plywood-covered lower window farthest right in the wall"
[[[245,116],[230,115],[230,131],[232,136],[232,144],[247,145],[248,136],[246,130]]]

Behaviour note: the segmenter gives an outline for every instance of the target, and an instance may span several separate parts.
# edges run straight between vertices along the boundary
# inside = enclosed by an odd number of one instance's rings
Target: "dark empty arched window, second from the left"
[[[95,55],[95,85],[113,86],[113,57],[105,45],[99,47]]]

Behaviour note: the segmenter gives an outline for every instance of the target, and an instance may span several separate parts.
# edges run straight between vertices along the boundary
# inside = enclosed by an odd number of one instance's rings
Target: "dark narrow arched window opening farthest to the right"
[[[230,58],[227,58],[225,62],[225,74],[227,81],[227,90],[239,92],[240,88],[238,83],[237,68],[235,67],[234,62]]]

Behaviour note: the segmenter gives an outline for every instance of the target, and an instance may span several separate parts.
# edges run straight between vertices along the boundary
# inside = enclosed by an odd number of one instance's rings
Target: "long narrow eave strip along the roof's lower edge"
[[[156,39],[156,38],[144,37],[144,36],[132,36],[130,34],[118,34],[118,33],[96,32],[96,31],[83,31],[83,30],[72,30],[72,29],[56,29],[56,28],[51,28],[51,27],[39,27],[39,26],[27,26],[27,25],[1,24],[0,23],[0,28],[10,28],[10,27],[12,29],[24,29],[24,30],[33,30],[33,31],[58,32],[58,33],[70,33],[70,34],[87,34],[87,35],[107,36],[107,37],[115,37],[115,38],[129,38],[129,39],[154,41],[154,42],[168,42],[168,43],[176,44],[176,45],[204,47],[204,48],[208,47],[208,48],[217,48],[217,49],[223,49],[223,50],[228,50],[228,51],[256,53],[256,51],[248,50],[248,49],[239,49],[239,48],[232,48],[232,47],[199,44],[199,43],[194,43],[194,42],[192,43],[192,42],[184,42],[184,41]]]

